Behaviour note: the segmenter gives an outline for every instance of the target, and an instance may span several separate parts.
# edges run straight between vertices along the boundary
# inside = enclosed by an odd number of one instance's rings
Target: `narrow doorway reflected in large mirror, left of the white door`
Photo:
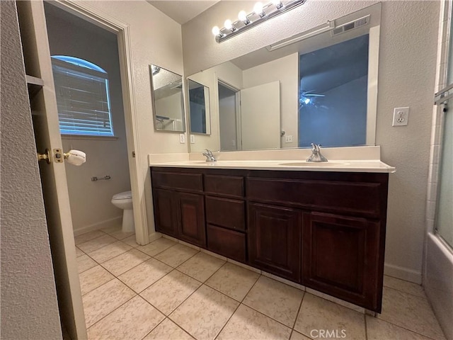
[[[219,81],[220,151],[241,150],[239,90]]]

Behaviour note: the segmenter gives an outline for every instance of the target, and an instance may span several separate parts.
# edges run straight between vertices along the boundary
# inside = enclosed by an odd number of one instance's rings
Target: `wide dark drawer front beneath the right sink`
[[[249,200],[369,217],[379,217],[382,209],[381,191],[380,183],[255,178],[247,180]]]

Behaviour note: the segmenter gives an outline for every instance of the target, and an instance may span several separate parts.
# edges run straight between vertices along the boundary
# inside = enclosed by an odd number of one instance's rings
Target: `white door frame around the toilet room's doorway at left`
[[[132,205],[134,209],[135,237],[137,243],[149,243],[149,230],[147,219],[147,205],[144,199],[144,185],[140,186],[140,179],[145,179],[142,174],[144,169],[142,157],[135,157],[134,154],[142,154],[138,133],[138,114],[135,106],[134,67],[132,63],[132,43],[130,39],[130,26],[117,18],[93,8],[85,1],[55,0],[51,2],[79,18],[82,18],[96,26],[108,30],[117,35],[118,55],[120,59],[120,74],[122,85],[122,101],[125,111],[125,128],[127,142],[127,159],[129,162],[130,184],[132,190]],[[143,182],[144,180],[140,181]]]

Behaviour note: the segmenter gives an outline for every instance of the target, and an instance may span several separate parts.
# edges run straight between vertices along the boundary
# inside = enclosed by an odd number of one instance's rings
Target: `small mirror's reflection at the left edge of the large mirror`
[[[210,89],[188,79],[189,120],[191,134],[211,134]]]

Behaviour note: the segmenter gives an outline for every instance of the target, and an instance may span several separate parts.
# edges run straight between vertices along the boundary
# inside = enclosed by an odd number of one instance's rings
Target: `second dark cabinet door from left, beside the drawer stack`
[[[178,207],[178,238],[206,247],[205,203],[202,195],[176,193]]]

